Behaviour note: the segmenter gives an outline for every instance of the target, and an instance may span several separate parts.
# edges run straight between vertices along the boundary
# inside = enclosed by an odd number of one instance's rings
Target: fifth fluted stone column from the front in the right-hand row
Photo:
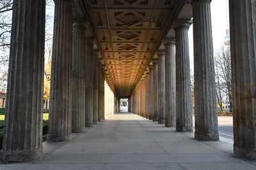
[[[158,62],[158,124],[164,124],[164,103],[165,103],[165,85],[164,85],[164,50],[157,52]]]

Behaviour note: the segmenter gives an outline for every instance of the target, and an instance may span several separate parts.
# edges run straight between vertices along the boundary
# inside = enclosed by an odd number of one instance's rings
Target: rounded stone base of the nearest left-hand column
[[[43,147],[35,150],[19,150],[19,151],[5,151],[1,150],[2,162],[26,162],[30,160],[40,159],[43,156]]]

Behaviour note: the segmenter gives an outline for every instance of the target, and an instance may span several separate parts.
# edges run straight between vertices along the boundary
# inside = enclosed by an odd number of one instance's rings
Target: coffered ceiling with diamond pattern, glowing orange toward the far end
[[[176,1],[84,2],[115,91],[119,96],[129,96],[148,66]]]

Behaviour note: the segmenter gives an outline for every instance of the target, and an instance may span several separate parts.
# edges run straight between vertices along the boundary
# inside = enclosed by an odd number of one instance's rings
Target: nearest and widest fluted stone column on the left
[[[1,161],[42,157],[45,1],[13,1]]]

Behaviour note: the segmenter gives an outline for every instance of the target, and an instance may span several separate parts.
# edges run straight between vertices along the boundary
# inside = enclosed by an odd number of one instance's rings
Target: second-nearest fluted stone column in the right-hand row
[[[211,0],[194,0],[195,139],[219,140],[212,46]]]

